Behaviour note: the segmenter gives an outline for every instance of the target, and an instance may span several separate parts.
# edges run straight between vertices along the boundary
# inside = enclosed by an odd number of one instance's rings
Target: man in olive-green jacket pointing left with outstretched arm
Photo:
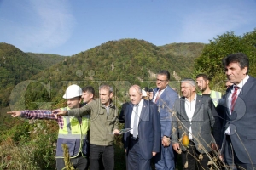
[[[79,109],[57,111],[58,116],[90,115],[90,170],[99,170],[102,157],[104,169],[114,169],[113,133],[119,133],[118,109],[113,105],[113,88],[102,85],[100,99]]]

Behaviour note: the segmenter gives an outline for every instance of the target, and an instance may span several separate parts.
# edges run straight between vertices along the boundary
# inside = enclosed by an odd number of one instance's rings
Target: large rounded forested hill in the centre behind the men
[[[157,47],[152,43],[137,39],[109,41],[100,46],[73,55],[65,62],[39,73],[38,79],[52,80],[129,80],[133,83],[154,79],[154,73],[166,69],[175,71],[180,77],[188,77],[193,70],[195,57],[200,56],[204,44],[184,44],[186,52],[180,53],[172,44]],[[174,45],[175,47],[177,44]],[[195,54],[197,52],[197,54]],[[191,54],[186,55],[185,54]],[[79,71],[79,76],[77,75]],[[81,75],[82,74],[82,75]],[[172,80],[175,78],[172,75]]]

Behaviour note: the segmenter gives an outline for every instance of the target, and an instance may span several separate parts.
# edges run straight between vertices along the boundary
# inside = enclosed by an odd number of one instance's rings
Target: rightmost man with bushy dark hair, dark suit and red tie
[[[249,77],[249,59],[246,54],[230,54],[223,59],[224,71],[233,86],[227,89],[222,109],[218,110],[223,138],[225,163],[232,169],[256,167],[256,80]],[[219,126],[217,126],[219,127]]]

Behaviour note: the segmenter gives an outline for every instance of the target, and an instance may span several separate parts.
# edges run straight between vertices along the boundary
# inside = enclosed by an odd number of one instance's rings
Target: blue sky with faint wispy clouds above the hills
[[[256,0],[0,0],[0,42],[71,56],[136,38],[157,46],[256,28]]]

